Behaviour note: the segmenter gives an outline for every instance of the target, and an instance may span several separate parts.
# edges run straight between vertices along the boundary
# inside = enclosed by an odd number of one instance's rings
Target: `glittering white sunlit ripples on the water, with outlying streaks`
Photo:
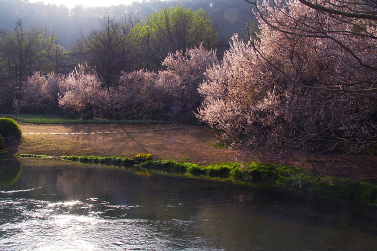
[[[138,205],[33,199],[1,202],[2,209],[7,207],[19,217],[0,226],[0,233],[7,233],[0,236],[0,250],[169,250],[168,246],[174,245],[171,238],[160,232],[161,222],[125,218],[127,210]],[[77,210],[81,214],[72,213]],[[104,210],[120,211],[113,217],[104,216]],[[172,221],[177,227],[185,224]]]

